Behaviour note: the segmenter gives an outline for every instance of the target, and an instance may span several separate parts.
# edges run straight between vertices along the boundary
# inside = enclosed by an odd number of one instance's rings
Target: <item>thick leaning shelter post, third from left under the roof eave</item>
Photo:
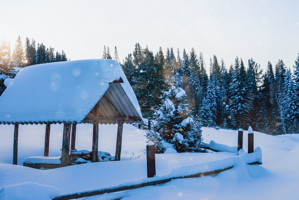
[[[70,150],[71,124],[63,125],[62,149],[61,149],[61,167],[68,166],[68,153]]]

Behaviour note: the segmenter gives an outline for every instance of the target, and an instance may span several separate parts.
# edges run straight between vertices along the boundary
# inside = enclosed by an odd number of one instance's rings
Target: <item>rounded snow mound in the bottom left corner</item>
[[[59,190],[50,185],[33,182],[2,187],[0,200],[52,200],[60,195]]]

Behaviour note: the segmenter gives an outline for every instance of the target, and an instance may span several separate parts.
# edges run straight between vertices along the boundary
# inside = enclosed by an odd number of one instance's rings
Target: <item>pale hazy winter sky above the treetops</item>
[[[1,2],[0,41],[26,37],[65,51],[70,60],[102,58],[104,45],[120,62],[139,42],[154,54],[162,47],[223,58],[229,67],[238,56],[262,68],[279,59],[292,68],[299,53],[299,1],[100,1],[11,0]],[[3,9],[4,8],[4,9]]]

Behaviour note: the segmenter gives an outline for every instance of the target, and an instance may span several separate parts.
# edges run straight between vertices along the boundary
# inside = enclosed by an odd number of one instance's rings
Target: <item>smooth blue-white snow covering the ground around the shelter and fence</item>
[[[147,177],[146,137],[143,130],[124,125],[121,161],[87,163],[52,170],[23,167],[28,156],[42,156],[45,125],[20,125],[18,165],[12,165],[13,126],[0,125],[0,200],[20,195],[23,199],[51,197],[85,190],[122,185]],[[202,128],[205,143],[211,140],[237,146],[237,130]],[[49,156],[60,156],[61,124],[51,125]],[[100,125],[99,150],[115,154],[117,125]],[[77,126],[76,149],[91,150],[92,125]],[[247,131],[243,148],[247,152]],[[254,148],[262,150],[262,165],[239,162],[217,176],[175,179],[158,186],[88,197],[86,200],[115,199],[299,199],[299,134],[269,136],[254,132]],[[156,174],[165,176],[181,166],[217,161],[235,153],[173,153],[156,155]],[[234,158],[234,157],[233,157]],[[235,159],[237,160],[237,159]],[[22,184],[12,187],[11,185]],[[40,184],[40,185],[37,185]],[[47,186],[41,186],[47,185]],[[51,187],[50,187],[51,186]],[[34,191],[34,192],[31,192]]]

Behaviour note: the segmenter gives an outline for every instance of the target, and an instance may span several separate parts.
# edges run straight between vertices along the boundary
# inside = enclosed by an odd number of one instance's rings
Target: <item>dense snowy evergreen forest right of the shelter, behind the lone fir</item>
[[[103,58],[107,58],[105,53],[106,47]],[[263,72],[252,58],[244,63],[236,57],[227,67],[214,55],[207,73],[202,53],[197,55],[194,48],[189,53],[184,49],[182,56],[178,49],[175,56],[173,48],[167,48],[164,55],[160,47],[154,54],[137,43],[121,67],[146,118],[161,103],[165,81],[178,73],[193,116],[202,126],[251,126],[271,135],[299,133],[299,56],[292,73],[282,60],[274,67],[268,62]]]

